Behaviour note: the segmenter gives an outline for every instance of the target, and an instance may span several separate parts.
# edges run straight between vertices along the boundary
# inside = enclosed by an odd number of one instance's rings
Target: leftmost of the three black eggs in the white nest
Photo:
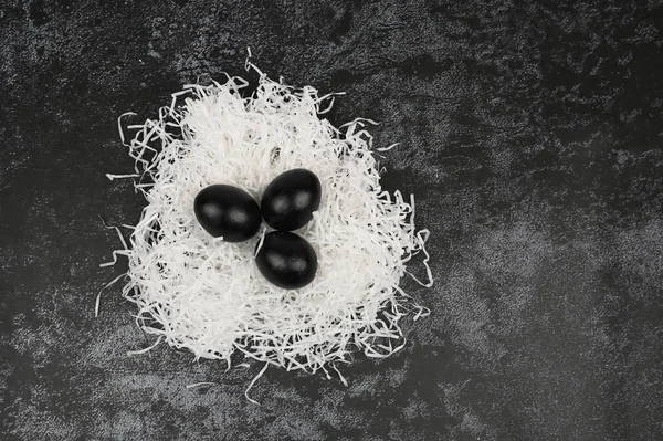
[[[246,191],[233,186],[215,185],[200,190],[193,203],[200,225],[225,242],[251,239],[262,222],[260,207]]]

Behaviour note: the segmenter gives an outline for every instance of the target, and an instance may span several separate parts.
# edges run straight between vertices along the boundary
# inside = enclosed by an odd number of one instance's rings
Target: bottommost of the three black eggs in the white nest
[[[308,285],[317,271],[317,255],[311,243],[287,231],[265,234],[255,263],[266,280],[286,290]]]

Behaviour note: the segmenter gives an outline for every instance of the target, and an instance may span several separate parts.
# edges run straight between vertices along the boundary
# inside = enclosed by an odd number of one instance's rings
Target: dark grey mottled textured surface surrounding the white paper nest
[[[2,440],[663,437],[661,1],[0,1]],[[298,3],[298,4],[297,4]],[[316,4],[313,4],[316,3]],[[337,380],[224,374],[146,339],[112,223],[116,117],[202,73],[347,91],[432,231],[432,315]],[[207,389],[186,389],[197,381]]]

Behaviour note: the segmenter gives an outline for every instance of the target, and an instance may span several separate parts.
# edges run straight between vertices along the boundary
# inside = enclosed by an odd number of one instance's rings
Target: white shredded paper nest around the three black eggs
[[[108,177],[134,178],[147,207],[129,245],[115,252],[128,256],[123,293],[156,343],[229,366],[240,351],[265,368],[329,376],[352,351],[389,356],[404,343],[399,319],[428,313],[399,287],[406,263],[425,254],[428,231],[414,229],[413,200],[380,188],[365,129],[372,122],[335,128],[320,116],[333,96],[271,81],[251,67],[260,75],[251,96],[240,77],[188,85],[158,119],[128,127],[137,130],[126,144],[135,174]],[[260,201],[272,179],[299,167],[323,186],[314,219],[297,231],[316,250],[319,266],[313,283],[286,291],[254,263],[266,227],[248,242],[225,243],[198,224],[193,199],[207,186],[229,183]],[[430,277],[428,265],[425,271]]]

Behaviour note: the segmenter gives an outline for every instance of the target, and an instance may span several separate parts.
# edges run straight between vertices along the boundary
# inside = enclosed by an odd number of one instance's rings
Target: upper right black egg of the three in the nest
[[[296,168],[278,175],[265,189],[261,209],[265,222],[276,230],[304,227],[320,204],[323,189],[313,171]]]

